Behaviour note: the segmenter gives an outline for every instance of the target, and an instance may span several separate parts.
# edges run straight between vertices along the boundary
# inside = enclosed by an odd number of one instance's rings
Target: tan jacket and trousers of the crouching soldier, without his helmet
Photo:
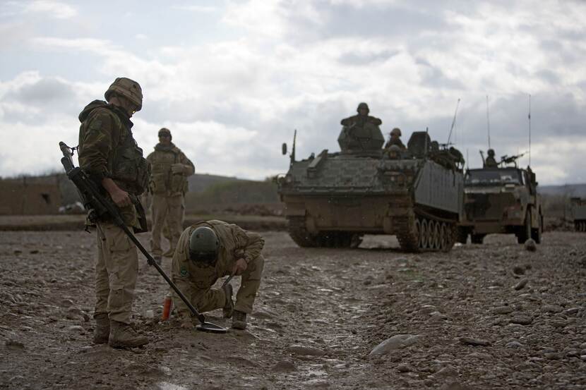
[[[191,232],[200,226],[212,228],[220,240],[220,252],[213,266],[201,266],[189,259],[189,238]],[[221,309],[227,300],[225,292],[211,287],[217,279],[231,274],[237,260],[244,259],[248,267],[242,274],[234,310],[251,313],[258,287],[261,286],[265,264],[261,251],[264,244],[258,233],[244,231],[234,224],[215,220],[198,222],[186,228],[179,238],[173,256],[172,280],[199,311]],[[191,318],[189,308],[175,293],[173,303],[181,320]]]

